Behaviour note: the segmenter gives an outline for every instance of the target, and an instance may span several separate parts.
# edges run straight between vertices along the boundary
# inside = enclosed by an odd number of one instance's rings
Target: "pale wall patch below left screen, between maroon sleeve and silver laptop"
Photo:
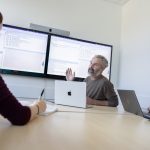
[[[45,88],[44,98],[54,99],[54,80],[35,77],[2,75],[10,91],[18,98],[37,99]]]

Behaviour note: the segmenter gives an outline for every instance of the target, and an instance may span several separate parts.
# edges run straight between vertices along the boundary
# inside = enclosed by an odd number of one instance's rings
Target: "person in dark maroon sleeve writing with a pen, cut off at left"
[[[0,12],[0,30],[3,16]],[[46,103],[38,100],[30,106],[23,106],[10,92],[0,76],[0,114],[14,125],[25,125],[37,115],[46,110]]]

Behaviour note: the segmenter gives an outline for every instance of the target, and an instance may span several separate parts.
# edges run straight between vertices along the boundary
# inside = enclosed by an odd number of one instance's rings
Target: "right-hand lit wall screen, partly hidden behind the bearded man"
[[[63,77],[66,69],[72,68],[77,78],[88,75],[88,66],[94,55],[103,55],[108,67],[103,75],[110,79],[112,46],[70,37],[51,35],[47,74]]]

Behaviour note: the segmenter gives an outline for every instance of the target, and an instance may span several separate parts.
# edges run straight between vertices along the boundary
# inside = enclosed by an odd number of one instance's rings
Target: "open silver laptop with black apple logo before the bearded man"
[[[86,83],[55,80],[55,104],[86,108]]]

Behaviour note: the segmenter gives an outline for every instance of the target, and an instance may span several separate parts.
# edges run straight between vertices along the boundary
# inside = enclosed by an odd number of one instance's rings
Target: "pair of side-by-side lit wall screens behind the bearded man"
[[[3,74],[64,79],[66,69],[72,68],[77,78],[85,78],[97,54],[107,58],[103,75],[110,79],[112,45],[6,24],[0,35]]]

